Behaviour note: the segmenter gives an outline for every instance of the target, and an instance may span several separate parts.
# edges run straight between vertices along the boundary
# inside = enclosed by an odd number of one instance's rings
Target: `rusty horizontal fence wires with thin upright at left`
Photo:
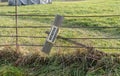
[[[17,0],[15,0],[17,1]],[[17,2],[16,2],[17,3]],[[15,26],[0,26],[0,29],[5,29],[5,28],[15,28],[15,35],[0,35],[0,37],[10,37],[10,38],[16,38],[15,44],[0,44],[0,46],[16,46],[16,51],[18,51],[18,46],[40,46],[42,47],[43,44],[39,45],[39,44],[19,44],[18,39],[19,38],[46,38],[46,36],[20,36],[18,35],[18,28],[50,28],[51,26],[18,26],[18,17],[19,16],[38,16],[38,17],[54,17],[55,15],[34,15],[34,14],[18,14],[18,9],[17,9],[17,5],[15,6],[15,14],[0,14],[0,16],[13,16],[15,17]],[[114,15],[114,14],[109,14],[109,15],[78,15],[78,16],[71,16],[71,15],[63,15],[66,18],[93,18],[93,17],[120,17],[120,15]],[[62,26],[61,28],[120,28],[118,26],[79,26],[79,25],[74,25],[74,26]],[[67,39],[91,39],[91,40],[98,40],[98,39],[105,39],[105,40],[110,40],[110,39],[120,39],[120,37],[106,37],[106,38],[102,38],[102,37],[92,37],[92,38],[85,38],[85,37],[81,37],[81,38],[64,38],[65,40]],[[62,48],[84,48],[84,47],[80,47],[80,46],[53,46],[53,47],[62,47]],[[88,47],[89,48],[89,47]],[[93,46],[92,48],[99,48],[99,49],[120,49],[120,47],[96,47]]]

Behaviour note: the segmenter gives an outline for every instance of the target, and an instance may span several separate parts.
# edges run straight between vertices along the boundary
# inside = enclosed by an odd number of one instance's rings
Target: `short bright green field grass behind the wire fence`
[[[28,5],[18,6],[18,14],[34,14],[34,15],[67,15],[67,16],[89,16],[89,15],[118,15],[120,12],[119,0],[86,0],[79,2],[53,2],[48,5]],[[8,6],[7,3],[0,3],[0,15],[15,14],[15,7]],[[39,17],[39,16],[19,16],[18,26],[49,26],[53,22],[52,17]],[[0,17],[0,26],[15,26],[15,17]],[[120,17],[88,17],[88,18],[66,18],[64,19],[63,26],[108,26],[119,27]],[[19,28],[18,34],[23,36],[47,36],[44,32],[49,29],[42,28]],[[59,35],[64,37],[120,37],[120,28],[77,28],[65,29],[61,28]],[[15,29],[1,28],[0,35],[15,35]],[[34,38],[19,38],[20,44],[44,44],[45,39]],[[119,47],[120,39],[100,39],[100,40],[77,40],[90,46],[99,47]],[[15,38],[0,38],[0,44],[15,43]],[[57,40],[55,45],[73,45],[66,41]],[[101,49],[102,50],[102,49]],[[119,52],[119,50],[103,50],[107,52]]]

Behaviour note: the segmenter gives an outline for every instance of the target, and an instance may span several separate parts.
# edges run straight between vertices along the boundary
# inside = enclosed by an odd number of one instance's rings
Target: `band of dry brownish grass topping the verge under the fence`
[[[57,66],[61,69],[79,68],[85,75],[88,71],[94,72],[99,69],[114,71],[114,68],[120,64],[120,55],[106,54],[93,48],[87,49],[85,52],[77,50],[68,54],[56,53],[50,56],[45,56],[40,52],[22,55],[20,52],[16,52],[14,48],[4,47],[0,50],[0,63],[3,62],[2,64],[4,64],[5,61],[12,62],[15,66],[28,66],[33,71],[39,70],[43,66]],[[48,70],[50,69],[48,68]]]

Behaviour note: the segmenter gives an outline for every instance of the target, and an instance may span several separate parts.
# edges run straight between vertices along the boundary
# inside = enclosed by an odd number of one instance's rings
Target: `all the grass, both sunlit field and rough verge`
[[[0,26],[15,26],[15,17],[1,16],[15,14],[15,7],[7,3],[0,3]],[[48,5],[18,6],[18,14],[31,15],[56,15],[63,16],[91,16],[91,15],[118,15],[120,14],[119,0],[85,0],[79,2],[53,2]],[[54,17],[19,16],[18,26],[50,26]],[[80,17],[64,18],[63,26],[86,26],[86,27],[120,27],[120,17]],[[72,38],[87,37],[120,37],[120,28],[60,28],[60,36]],[[47,36],[45,31],[49,28],[19,28],[21,36]],[[15,35],[15,28],[0,28],[0,35]],[[88,46],[119,47],[120,39],[82,39],[77,42]],[[20,44],[44,44],[45,39],[19,38]],[[0,44],[13,44],[15,38],[0,37]],[[57,39],[54,45],[73,45],[67,41]],[[85,51],[84,49],[53,48],[58,51],[57,55],[51,54],[42,57],[40,47],[20,47],[22,54],[16,53],[15,49],[0,47],[0,76],[120,76],[120,56],[104,56],[99,52],[87,55],[72,53],[69,51]],[[98,48],[96,48],[98,49]],[[107,53],[120,53],[117,49],[100,49]],[[30,52],[29,52],[30,51]],[[68,54],[61,54],[62,51]],[[30,53],[30,54],[28,54]],[[60,54],[59,54],[60,53]],[[26,55],[27,54],[27,55]],[[22,55],[22,56],[21,56]],[[88,58],[87,58],[88,56]],[[97,61],[90,57],[100,57]],[[22,59],[17,63],[16,60]],[[87,58],[87,59],[86,59]],[[118,60],[117,60],[118,59]],[[96,63],[97,62],[97,63]],[[12,75],[11,75],[12,74]]]

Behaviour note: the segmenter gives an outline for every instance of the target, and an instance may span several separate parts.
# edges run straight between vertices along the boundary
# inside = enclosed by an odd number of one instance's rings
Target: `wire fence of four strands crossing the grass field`
[[[20,38],[34,38],[34,39],[46,39],[47,35],[45,36],[27,36],[27,35],[19,35],[19,29],[50,29],[51,26],[44,26],[44,25],[41,25],[41,26],[18,26],[18,17],[23,17],[23,16],[26,16],[26,17],[30,17],[30,16],[35,16],[35,17],[41,17],[41,18],[54,18],[55,15],[35,15],[35,14],[18,14],[18,6],[15,6],[15,14],[0,14],[0,17],[2,18],[3,16],[10,16],[10,17],[15,17],[15,26],[0,26],[0,29],[15,29],[15,35],[0,35],[0,38],[15,38],[15,43],[12,43],[12,44],[0,44],[0,46],[16,46],[16,50],[19,49],[19,46],[27,46],[27,47],[30,47],[30,46],[37,46],[37,47],[42,47],[43,44],[24,44],[24,43],[19,43],[19,40]],[[64,15],[65,18],[106,18],[106,17],[120,17],[120,15],[114,15],[114,14],[109,14],[109,15],[85,15],[85,16],[73,16],[73,15]],[[74,26],[63,26],[61,27],[61,29],[63,29],[63,32],[65,32],[64,29],[70,29],[71,31],[72,30],[76,30],[76,29],[120,29],[120,26],[78,26],[78,25],[74,25]],[[45,31],[45,30],[44,30]],[[43,31],[43,33],[45,33]],[[41,33],[40,33],[41,34]],[[59,39],[59,38],[58,38]],[[72,40],[120,40],[120,37],[64,37],[64,40],[68,40],[68,39],[72,39]],[[30,40],[31,41],[31,40]],[[44,42],[42,42],[44,43]],[[84,43],[83,43],[84,44]],[[83,48],[81,46],[74,46],[74,45],[56,45],[54,47],[61,47],[61,48]],[[90,47],[90,46],[88,46]],[[114,47],[114,46],[92,46],[93,48],[98,48],[98,49],[120,49],[119,45]]]

